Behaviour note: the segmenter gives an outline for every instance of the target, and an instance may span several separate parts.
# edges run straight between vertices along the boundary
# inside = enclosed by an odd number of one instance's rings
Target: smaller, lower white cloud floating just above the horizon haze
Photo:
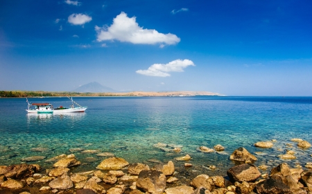
[[[189,59],[177,59],[169,62],[168,64],[153,64],[147,70],[137,70],[136,72],[141,75],[169,77],[168,72],[183,72],[184,68],[188,66],[195,66],[193,61]]]

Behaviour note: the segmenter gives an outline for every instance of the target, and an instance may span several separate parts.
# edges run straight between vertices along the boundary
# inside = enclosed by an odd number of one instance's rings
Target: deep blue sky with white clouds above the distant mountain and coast
[[[312,1],[0,1],[0,90],[312,96]]]

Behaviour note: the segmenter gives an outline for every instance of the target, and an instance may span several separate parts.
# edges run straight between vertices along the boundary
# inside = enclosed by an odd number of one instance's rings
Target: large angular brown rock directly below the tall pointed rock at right
[[[234,166],[227,170],[227,175],[230,180],[239,181],[239,182],[250,182],[257,180],[261,176],[257,166],[252,164],[240,164],[238,166]]]

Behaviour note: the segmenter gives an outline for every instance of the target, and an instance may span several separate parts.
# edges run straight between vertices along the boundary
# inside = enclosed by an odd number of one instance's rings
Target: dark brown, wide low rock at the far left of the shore
[[[32,164],[12,165],[6,168],[6,173],[4,175],[7,178],[20,179],[31,177],[34,173],[38,172],[38,169],[40,169],[38,166]]]

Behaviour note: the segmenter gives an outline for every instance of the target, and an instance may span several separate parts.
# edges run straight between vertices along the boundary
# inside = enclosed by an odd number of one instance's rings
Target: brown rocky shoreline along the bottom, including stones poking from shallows
[[[309,142],[302,139],[292,139],[298,148],[308,149]],[[257,142],[254,146],[272,148],[271,142]],[[165,148],[164,144],[155,144]],[[221,145],[214,149],[200,146],[198,151],[211,153],[223,151]],[[174,148],[180,152],[181,148]],[[278,157],[294,159],[295,153],[287,151]],[[106,156],[92,171],[73,173],[77,166],[83,165],[74,154],[58,155],[51,159],[51,168],[42,170],[39,164],[17,164],[0,166],[0,193],[77,193],[77,194],[235,194],[235,193],[295,193],[312,194],[312,167],[306,164],[291,168],[286,163],[273,166],[267,173],[268,166],[254,166],[257,157],[247,149],[237,148],[230,156],[235,165],[227,170],[227,176],[201,174],[193,168],[191,156],[175,157],[175,160],[155,165],[135,163],[129,164],[121,157],[114,157],[113,153],[101,153]],[[195,177],[183,177],[182,170],[176,168],[177,162],[184,162],[185,171],[193,172]],[[212,171],[216,166],[208,166]]]

